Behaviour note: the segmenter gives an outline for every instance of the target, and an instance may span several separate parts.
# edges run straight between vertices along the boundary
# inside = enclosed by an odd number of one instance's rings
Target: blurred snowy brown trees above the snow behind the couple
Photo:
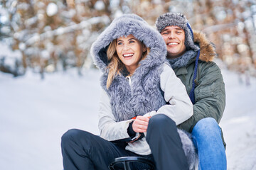
[[[0,71],[15,77],[28,68],[44,77],[76,67],[93,67],[90,45],[122,13],[137,13],[151,26],[162,13],[186,14],[206,33],[228,69],[256,76],[254,0],[1,0]]]

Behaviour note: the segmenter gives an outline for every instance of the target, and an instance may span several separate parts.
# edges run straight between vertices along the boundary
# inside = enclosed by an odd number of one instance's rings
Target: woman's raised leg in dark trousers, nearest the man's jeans
[[[188,163],[182,149],[176,123],[164,114],[154,115],[149,120],[146,141],[158,170],[186,170]]]

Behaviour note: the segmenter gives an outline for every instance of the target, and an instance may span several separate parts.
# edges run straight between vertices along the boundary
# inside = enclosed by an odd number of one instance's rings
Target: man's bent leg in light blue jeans
[[[199,169],[225,170],[227,159],[221,138],[221,130],[213,118],[204,118],[192,130],[194,145],[198,149]]]

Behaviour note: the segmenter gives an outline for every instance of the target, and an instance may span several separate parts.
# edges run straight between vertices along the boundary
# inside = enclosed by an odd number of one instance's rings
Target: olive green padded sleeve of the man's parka
[[[198,67],[199,68],[199,67]],[[220,68],[215,62],[203,62],[198,70],[195,89],[193,116],[178,128],[192,132],[193,127],[203,118],[214,118],[218,123],[225,108],[225,84]]]

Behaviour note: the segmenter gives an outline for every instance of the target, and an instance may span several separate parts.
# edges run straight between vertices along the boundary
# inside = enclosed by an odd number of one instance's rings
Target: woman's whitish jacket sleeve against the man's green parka
[[[169,104],[159,108],[155,114],[161,113],[169,116],[176,125],[188,120],[193,115],[193,105],[186,93],[185,86],[167,64],[164,64],[163,72],[160,75],[160,86],[164,91],[164,99]],[[154,112],[152,113],[154,115]]]

